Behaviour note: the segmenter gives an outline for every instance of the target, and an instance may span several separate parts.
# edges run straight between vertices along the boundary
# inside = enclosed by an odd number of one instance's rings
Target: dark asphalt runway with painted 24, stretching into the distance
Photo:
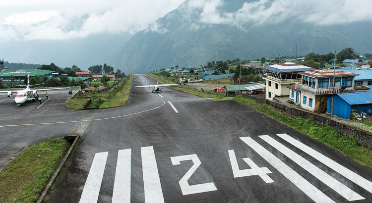
[[[133,86],[98,110],[50,203],[372,200],[370,168],[248,106]]]

